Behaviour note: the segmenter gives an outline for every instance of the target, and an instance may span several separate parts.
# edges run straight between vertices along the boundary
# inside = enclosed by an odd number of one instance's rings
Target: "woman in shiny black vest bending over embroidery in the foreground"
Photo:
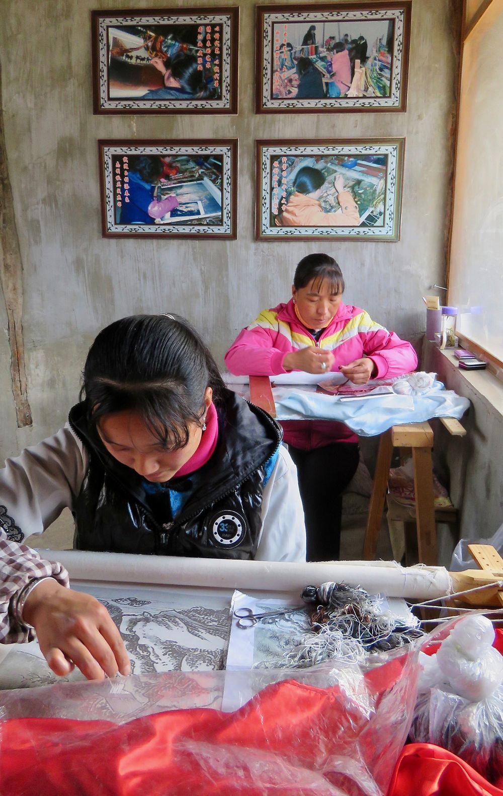
[[[22,544],[64,508],[80,550],[305,560],[296,469],[281,427],[225,388],[176,315],[122,318],[87,355],[81,400],[55,435],[0,470],[0,642],[33,638],[52,671],[129,671],[110,616]]]

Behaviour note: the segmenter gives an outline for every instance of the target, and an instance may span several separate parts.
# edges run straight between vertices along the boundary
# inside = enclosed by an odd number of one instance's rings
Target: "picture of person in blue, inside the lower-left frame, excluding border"
[[[222,156],[114,154],[115,224],[222,223]]]

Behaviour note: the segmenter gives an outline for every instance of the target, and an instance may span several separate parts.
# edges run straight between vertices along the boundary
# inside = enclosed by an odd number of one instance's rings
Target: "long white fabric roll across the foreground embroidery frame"
[[[334,580],[362,586],[370,594],[432,599],[453,591],[443,567],[400,567],[394,561],[291,563],[226,559],[133,556],[127,553],[40,550],[44,559],[60,561],[73,580],[100,583],[229,588],[258,591],[301,591]]]

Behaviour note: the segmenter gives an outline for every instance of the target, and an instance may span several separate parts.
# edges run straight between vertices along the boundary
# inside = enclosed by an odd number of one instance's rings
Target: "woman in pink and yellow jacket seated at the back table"
[[[342,372],[354,384],[414,370],[410,343],[370,315],[342,302],[344,279],[335,259],[311,254],[300,260],[292,298],[263,310],[226,353],[236,376]],[[282,423],[296,463],[308,533],[308,561],[339,556],[341,493],[358,467],[358,437],[344,423],[292,420]]]

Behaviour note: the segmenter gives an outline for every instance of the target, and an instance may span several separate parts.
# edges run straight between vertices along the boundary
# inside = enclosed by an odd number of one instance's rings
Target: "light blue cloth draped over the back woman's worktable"
[[[373,437],[400,423],[422,423],[434,417],[460,419],[467,398],[436,381],[423,395],[384,395],[367,400],[340,400],[302,388],[273,388],[278,420],[339,420],[361,437]]]

